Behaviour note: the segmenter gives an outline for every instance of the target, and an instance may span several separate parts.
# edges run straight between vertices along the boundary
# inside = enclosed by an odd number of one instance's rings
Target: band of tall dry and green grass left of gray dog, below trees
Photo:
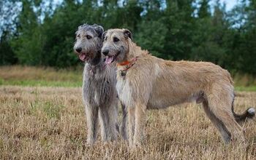
[[[83,67],[72,69],[29,66],[1,66],[0,85],[80,87]]]

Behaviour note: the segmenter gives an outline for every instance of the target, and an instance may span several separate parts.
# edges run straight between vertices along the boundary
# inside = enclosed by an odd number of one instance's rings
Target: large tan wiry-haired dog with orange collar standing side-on
[[[162,60],[149,55],[132,42],[127,29],[111,29],[103,33],[102,54],[105,63],[117,62],[118,97],[127,106],[129,145],[140,145],[146,124],[146,109],[195,100],[203,103],[204,111],[223,140],[231,134],[244,141],[238,121],[255,116],[255,109],[243,114],[233,112],[234,87],[228,71],[213,63]]]

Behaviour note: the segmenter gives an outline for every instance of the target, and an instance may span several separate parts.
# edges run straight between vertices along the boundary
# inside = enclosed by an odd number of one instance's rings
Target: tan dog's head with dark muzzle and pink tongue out
[[[105,63],[116,61],[121,63],[129,53],[129,41],[132,41],[132,33],[128,29],[110,29],[102,34],[102,54],[105,55]]]

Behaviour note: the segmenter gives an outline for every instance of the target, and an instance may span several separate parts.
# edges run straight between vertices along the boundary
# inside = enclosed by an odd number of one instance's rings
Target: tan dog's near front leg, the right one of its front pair
[[[144,139],[144,127],[146,125],[146,105],[135,106],[135,135],[133,145],[140,146]]]

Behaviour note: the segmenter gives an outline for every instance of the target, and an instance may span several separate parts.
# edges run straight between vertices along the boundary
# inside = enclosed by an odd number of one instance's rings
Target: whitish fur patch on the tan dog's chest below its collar
[[[124,105],[127,107],[133,107],[133,99],[132,99],[132,92],[131,87],[129,86],[129,81],[125,79],[118,79],[116,83],[116,89],[118,93],[118,97]]]

